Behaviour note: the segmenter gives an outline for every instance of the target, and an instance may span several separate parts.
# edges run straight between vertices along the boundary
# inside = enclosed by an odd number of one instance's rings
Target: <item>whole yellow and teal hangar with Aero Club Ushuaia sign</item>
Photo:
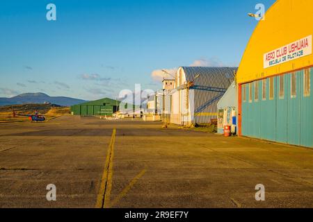
[[[236,74],[239,135],[313,147],[313,1],[278,0]]]

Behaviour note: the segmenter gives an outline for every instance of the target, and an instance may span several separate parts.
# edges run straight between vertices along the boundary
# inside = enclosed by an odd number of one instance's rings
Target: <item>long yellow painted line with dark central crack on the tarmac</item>
[[[106,164],[104,165],[104,172],[102,174],[101,185],[99,188],[99,194],[97,196],[96,208],[103,208],[109,206],[111,189],[112,189],[112,177],[113,177],[113,154],[114,154],[114,142],[115,142],[116,130],[113,129],[111,136],[111,142],[109,144],[108,152],[106,154]]]

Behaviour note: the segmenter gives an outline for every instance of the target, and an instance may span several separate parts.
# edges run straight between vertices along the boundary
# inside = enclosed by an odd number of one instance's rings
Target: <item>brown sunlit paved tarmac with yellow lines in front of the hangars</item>
[[[2,123],[0,207],[313,207],[312,160],[310,148],[160,122]]]

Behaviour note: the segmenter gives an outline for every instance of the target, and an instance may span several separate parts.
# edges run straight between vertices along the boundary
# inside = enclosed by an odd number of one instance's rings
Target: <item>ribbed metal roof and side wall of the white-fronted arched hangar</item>
[[[186,74],[186,80],[193,82],[189,100],[193,112],[193,123],[209,123],[216,119],[217,103],[223,96],[223,92],[213,92],[206,88],[225,89],[230,87],[237,67],[182,67]],[[195,78],[195,76],[198,78]]]

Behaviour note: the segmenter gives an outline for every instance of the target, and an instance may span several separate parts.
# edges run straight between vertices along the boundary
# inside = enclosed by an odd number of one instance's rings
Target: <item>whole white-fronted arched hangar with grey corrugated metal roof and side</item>
[[[217,103],[234,80],[236,67],[179,67],[170,90],[170,123],[191,126],[217,119]]]

